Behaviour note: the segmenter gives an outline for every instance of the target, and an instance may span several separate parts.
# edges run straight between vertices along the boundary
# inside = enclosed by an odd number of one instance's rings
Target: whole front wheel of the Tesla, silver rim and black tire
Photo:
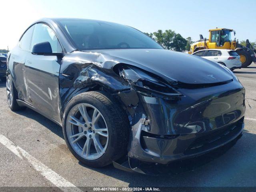
[[[128,118],[105,92],[72,98],[62,124],[69,150],[88,166],[106,166],[126,154]]]

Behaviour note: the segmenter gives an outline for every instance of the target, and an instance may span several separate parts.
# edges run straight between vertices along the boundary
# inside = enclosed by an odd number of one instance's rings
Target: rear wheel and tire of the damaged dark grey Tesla
[[[7,94],[7,102],[12,111],[22,110],[25,107],[20,107],[17,103],[18,92],[12,82],[12,78],[10,75],[6,78],[6,94]]]

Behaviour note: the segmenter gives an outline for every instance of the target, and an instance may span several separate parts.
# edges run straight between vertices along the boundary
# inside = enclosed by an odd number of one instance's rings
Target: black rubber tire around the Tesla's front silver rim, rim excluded
[[[96,160],[87,160],[81,157],[72,148],[66,131],[66,121],[70,110],[80,103],[87,103],[95,106],[104,116],[108,126],[108,145],[105,153]],[[111,164],[112,161],[118,160],[127,154],[128,129],[130,127],[128,117],[124,110],[114,102],[112,96],[106,92],[92,91],[85,92],[74,96],[64,110],[64,118],[62,120],[62,130],[66,144],[72,154],[87,166],[103,167]]]

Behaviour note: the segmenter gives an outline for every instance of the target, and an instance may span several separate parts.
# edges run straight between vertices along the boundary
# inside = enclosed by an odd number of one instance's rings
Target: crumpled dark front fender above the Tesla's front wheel
[[[117,61],[106,60],[101,54],[82,55],[74,52],[66,54],[62,60],[59,76],[61,115],[68,101],[81,92],[100,89],[114,94],[129,89],[128,84],[112,70]]]

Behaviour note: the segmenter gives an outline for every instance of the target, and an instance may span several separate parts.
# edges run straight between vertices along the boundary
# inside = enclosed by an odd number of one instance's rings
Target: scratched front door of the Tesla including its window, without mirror
[[[31,47],[41,42],[50,42],[52,52],[62,52],[54,31],[46,24],[35,25]],[[62,58],[28,54],[26,77],[29,100],[42,114],[61,123],[59,111],[59,71]]]

